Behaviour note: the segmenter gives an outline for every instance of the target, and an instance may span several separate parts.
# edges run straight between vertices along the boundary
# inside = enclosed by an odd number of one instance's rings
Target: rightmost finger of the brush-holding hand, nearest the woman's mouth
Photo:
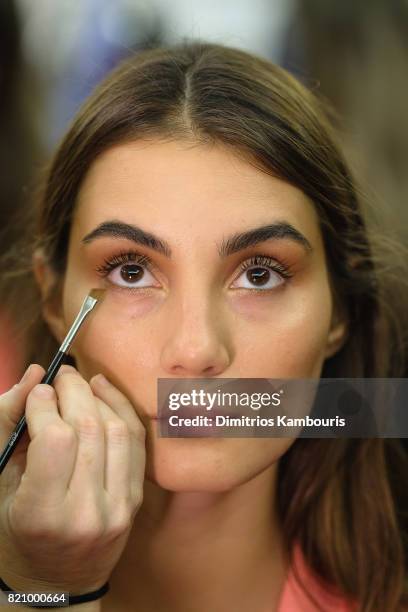
[[[105,381],[96,376],[89,384],[102,400],[99,406],[107,432],[106,489],[113,497],[123,498],[130,486],[131,497],[135,500],[140,497],[144,480],[146,430],[127,397]],[[118,426],[118,421],[126,425],[128,434],[124,434],[126,430]]]

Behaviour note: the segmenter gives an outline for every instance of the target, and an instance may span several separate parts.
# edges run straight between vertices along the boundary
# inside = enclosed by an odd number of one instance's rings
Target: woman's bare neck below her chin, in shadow
[[[134,602],[144,612],[275,610],[286,572],[276,469],[215,493],[167,491],[145,480],[110,581],[121,610]]]

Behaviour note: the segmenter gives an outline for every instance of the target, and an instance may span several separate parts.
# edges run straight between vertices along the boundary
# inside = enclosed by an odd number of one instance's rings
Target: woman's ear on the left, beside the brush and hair
[[[41,293],[42,315],[56,340],[61,343],[66,335],[66,325],[62,313],[61,287],[58,279],[47,262],[41,249],[33,254],[33,271]]]

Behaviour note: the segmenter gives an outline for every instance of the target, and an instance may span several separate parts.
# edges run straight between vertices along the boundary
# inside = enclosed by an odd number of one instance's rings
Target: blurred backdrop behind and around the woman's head
[[[405,0],[1,0],[0,254],[36,174],[95,84],[130,52],[202,38],[267,57],[323,95],[384,229],[408,234]],[[1,270],[0,270],[1,273]],[[24,346],[0,303],[0,393]]]

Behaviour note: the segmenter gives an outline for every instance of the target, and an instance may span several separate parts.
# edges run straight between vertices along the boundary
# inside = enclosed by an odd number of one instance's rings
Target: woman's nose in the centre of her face
[[[168,376],[180,378],[219,376],[232,358],[222,313],[208,300],[193,301],[168,313],[171,333],[163,345],[161,367]]]

